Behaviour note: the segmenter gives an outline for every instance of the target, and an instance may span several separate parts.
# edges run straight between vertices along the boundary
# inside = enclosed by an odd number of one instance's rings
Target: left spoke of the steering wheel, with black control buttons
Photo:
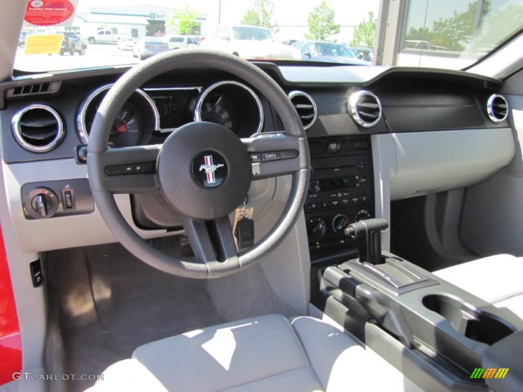
[[[97,189],[112,193],[145,193],[158,188],[156,160],[160,145],[110,148],[99,153],[95,170],[89,178]]]

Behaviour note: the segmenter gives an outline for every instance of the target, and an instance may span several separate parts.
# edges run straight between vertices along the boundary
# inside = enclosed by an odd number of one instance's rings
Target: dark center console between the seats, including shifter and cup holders
[[[511,365],[511,377],[520,377],[519,352],[503,350],[519,344],[523,320],[382,251],[386,229],[383,218],[348,225],[344,234],[358,255],[313,266],[312,304],[423,389],[487,391],[490,384],[474,374],[493,363],[495,372]],[[502,384],[499,390],[511,390]]]

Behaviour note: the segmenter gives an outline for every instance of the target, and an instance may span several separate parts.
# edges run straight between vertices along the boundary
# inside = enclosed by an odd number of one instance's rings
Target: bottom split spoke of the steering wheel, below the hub
[[[180,219],[196,259],[207,264],[210,273],[219,274],[220,270],[240,267],[229,216],[213,221],[187,216],[180,216]]]

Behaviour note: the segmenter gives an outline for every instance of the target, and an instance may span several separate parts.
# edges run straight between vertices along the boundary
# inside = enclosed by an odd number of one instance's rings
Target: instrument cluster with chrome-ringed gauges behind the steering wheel
[[[77,131],[84,143],[89,141],[96,112],[111,86],[94,90],[78,109]],[[233,80],[206,87],[143,87],[118,112],[109,143],[115,147],[162,143],[192,121],[216,123],[238,137],[249,137],[262,131],[264,113],[257,94]]]

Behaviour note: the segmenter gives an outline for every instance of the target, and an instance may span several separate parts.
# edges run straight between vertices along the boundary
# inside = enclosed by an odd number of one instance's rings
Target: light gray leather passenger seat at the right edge
[[[523,318],[523,258],[496,255],[434,272],[441,279]]]

